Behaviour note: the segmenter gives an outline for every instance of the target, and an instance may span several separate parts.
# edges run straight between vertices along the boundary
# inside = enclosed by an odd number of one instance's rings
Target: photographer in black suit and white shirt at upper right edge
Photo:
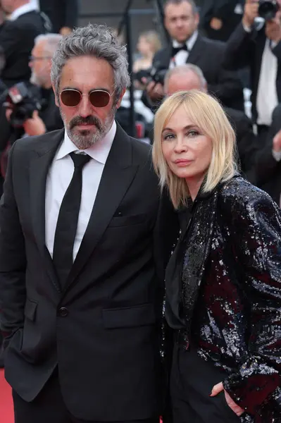
[[[277,11],[278,5],[281,0],[246,0],[242,23],[233,32],[225,50],[227,68],[250,67],[252,116],[261,147],[266,142],[273,110],[281,102],[281,11]],[[263,16],[266,8],[273,12]],[[260,15],[265,19],[261,20]]]

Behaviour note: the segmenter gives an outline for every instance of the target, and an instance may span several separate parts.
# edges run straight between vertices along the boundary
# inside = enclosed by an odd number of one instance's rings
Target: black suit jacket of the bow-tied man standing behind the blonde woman
[[[157,51],[154,66],[167,68],[170,64],[172,47]],[[235,72],[225,71],[222,67],[225,44],[198,35],[187,63],[201,68],[208,83],[208,90],[225,106],[244,110],[242,83]]]

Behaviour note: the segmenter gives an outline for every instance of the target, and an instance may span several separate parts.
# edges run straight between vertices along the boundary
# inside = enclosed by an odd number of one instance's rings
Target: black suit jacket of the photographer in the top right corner
[[[258,93],[258,81],[261,73],[261,61],[263,50],[266,45],[266,32],[264,27],[253,32],[246,32],[242,23],[237,26],[235,32],[227,42],[223,64],[226,68],[238,70],[249,66],[251,71],[252,87],[252,114],[254,120],[257,118],[256,97]],[[281,102],[281,42],[273,49],[277,57],[278,68],[276,78],[277,97]]]

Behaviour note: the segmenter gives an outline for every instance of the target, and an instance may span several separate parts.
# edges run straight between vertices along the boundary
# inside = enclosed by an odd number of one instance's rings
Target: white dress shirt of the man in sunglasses
[[[74,164],[70,157],[71,152],[85,152],[92,160],[89,160],[82,170],[82,195],[80,212],[78,216],[77,232],[73,245],[73,262],[80,248],[82,238],[84,237],[89,218],[92,214],[96,193],[101,181],[101,175],[104,171],[106,159],[111,150],[111,146],[116,133],[116,123],[113,125],[103,140],[96,142],[85,150],[78,150],[77,147],[68,137],[65,136],[61,147],[59,147],[52,162],[49,173],[46,178],[46,201],[45,201],[45,238],[46,247],[53,257],[54,238],[56,232],[56,223],[58,221],[58,213],[63,201],[65,191],[68,189],[70,180],[73,177]]]

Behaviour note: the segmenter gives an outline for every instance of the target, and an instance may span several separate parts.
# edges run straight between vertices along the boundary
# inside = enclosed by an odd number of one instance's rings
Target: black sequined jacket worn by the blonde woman
[[[227,372],[242,422],[281,422],[280,209],[239,176],[193,207],[166,273],[168,322],[180,275],[184,348],[194,338]]]

